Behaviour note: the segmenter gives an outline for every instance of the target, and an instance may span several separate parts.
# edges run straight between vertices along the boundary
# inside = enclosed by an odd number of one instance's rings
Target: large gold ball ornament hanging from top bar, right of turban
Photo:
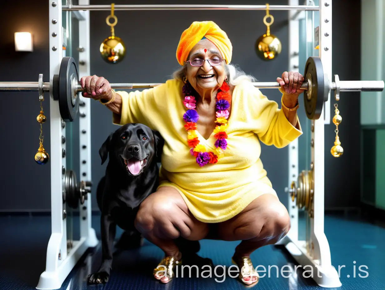
[[[268,23],[266,20],[270,18]],[[280,40],[273,34],[270,34],[270,25],[273,24],[274,17],[269,14],[269,4],[266,3],[266,15],[263,17],[263,23],[267,27],[266,34],[260,36],[255,44],[257,55],[263,60],[275,59],[281,53],[282,45]]]

